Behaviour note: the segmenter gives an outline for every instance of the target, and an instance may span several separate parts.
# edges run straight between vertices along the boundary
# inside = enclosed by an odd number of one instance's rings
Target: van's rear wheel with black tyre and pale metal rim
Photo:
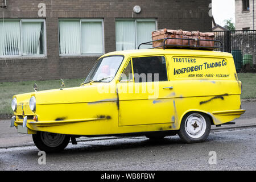
[[[185,143],[204,142],[210,134],[210,118],[207,114],[193,112],[184,115],[179,137]]]

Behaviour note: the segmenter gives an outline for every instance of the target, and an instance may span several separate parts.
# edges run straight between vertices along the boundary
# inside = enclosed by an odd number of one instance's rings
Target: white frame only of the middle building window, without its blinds
[[[60,53],[60,21],[79,21],[80,22],[80,35],[82,36],[82,22],[101,22],[102,26],[102,53],[82,53],[82,38],[80,39],[80,54],[61,54]],[[59,55],[63,57],[73,56],[102,56],[105,54],[105,38],[104,38],[104,19],[103,18],[59,18],[58,20],[58,35],[59,35]]]

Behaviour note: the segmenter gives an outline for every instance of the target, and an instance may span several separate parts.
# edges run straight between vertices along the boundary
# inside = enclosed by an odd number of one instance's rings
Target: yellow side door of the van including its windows
[[[119,126],[173,123],[172,82],[165,56],[132,57],[117,82]]]

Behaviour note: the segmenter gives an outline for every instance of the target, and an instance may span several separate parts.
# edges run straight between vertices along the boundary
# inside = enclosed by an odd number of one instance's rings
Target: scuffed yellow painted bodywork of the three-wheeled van
[[[214,125],[232,121],[245,112],[241,109],[241,82],[230,53],[141,49],[104,56],[111,55],[122,55],[124,59],[117,75],[108,83],[92,82],[14,96],[18,102],[15,126],[22,125],[23,117],[28,116],[29,134],[47,131],[112,135],[179,130],[181,119],[189,111],[208,114]],[[166,57],[168,81],[154,84],[119,81],[128,61],[140,56]],[[163,89],[171,86],[173,89]],[[144,88],[147,89],[143,93],[135,92]],[[29,107],[31,96],[36,98],[35,113]],[[32,119],[34,115],[38,121]]]

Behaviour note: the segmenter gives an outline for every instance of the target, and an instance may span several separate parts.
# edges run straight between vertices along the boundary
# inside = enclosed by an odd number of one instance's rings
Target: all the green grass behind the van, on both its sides
[[[242,99],[256,98],[256,73],[238,73],[238,79],[242,81]],[[79,86],[84,78],[66,79],[65,88]],[[38,90],[48,90],[60,88],[60,80],[46,81],[20,81],[20,82],[0,82],[0,115],[12,114],[11,100],[15,94],[34,92],[34,82],[38,85]]]

